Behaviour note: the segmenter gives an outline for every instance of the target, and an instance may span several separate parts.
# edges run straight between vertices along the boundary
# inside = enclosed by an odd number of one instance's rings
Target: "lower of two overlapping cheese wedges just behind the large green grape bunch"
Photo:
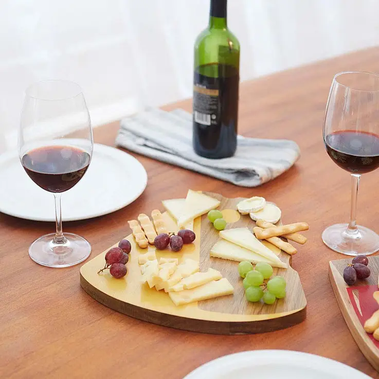
[[[210,250],[210,256],[215,258],[228,259],[229,261],[248,261],[251,263],[264,262],[272,265],[273,267],[286,268],[287,265],[282,261],[273,262],[254,251],[245,249],[226,240],[217,241]]]

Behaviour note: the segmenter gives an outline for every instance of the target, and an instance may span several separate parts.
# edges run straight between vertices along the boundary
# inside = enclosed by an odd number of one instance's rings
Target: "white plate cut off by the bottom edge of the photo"
[[[286,350],[257,350],[211,360],[184,379],[371,379],[335,360]]]

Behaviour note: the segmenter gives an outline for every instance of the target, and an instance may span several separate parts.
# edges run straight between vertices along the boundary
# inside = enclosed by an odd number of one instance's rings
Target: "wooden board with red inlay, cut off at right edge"
[[[371,275],[366,280],[357,280],[354,285],[345,283],[343,273],[352,258],[329,262],[329,278],[339,308],[360,351],[379,371],[379,342],[365,332],[365,321],[379,309],[372,294],[378,291],[379,257],[368,257]]]

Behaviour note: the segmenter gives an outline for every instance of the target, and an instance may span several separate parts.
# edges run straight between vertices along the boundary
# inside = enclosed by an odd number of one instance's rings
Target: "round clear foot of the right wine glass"
[[[356,236],[346,235],[348,224],[335,224],[326,228],[321,235],[329,248],[341,254],[357,256],[370,255],[379,250],[379,236],[365,226],[357,226]]]

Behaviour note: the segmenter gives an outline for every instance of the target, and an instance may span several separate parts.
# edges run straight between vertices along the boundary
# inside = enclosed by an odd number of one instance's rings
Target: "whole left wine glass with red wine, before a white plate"
[[[65,137],[68,133],[75,138]],[[63,234],[61,194],[83,177],[93,146],[91,119],[78,84],[46,80],[27,88],[19,128],[20,160],[32,181],[54,194],[56,211],[56,233],[38,238],[29,247],[30,258],[39,264],[68,267],[91,253],[84,238]]]

